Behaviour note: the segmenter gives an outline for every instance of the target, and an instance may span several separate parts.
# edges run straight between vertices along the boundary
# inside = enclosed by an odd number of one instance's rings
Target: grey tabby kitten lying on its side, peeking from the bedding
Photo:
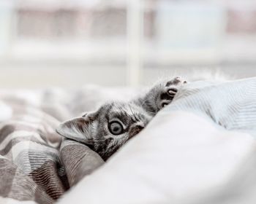
[[[166,80],[132,101],[105,103],[97,111],[63,122],[56,131],[61,136],[86,144],[103,160],[108,160],[173,100],[184,83],[187,82],[180,77]]]

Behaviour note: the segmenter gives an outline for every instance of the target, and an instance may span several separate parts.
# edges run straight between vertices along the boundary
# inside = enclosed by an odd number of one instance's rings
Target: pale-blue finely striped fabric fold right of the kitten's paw
[[[192,111],[227,130],[256,136],[256,77],[231,82],[192,82],[163,111]],[[186,125],[184,125],[186,127]]]

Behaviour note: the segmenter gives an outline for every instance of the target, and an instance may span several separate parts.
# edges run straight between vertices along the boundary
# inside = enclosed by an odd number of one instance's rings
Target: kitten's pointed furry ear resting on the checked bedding
[[[83,117],[76,117],[62,122],[56,128],[56,132],[61,136],[80,141],[85,144],[90,144],[90,133],[94,120],[97,119],[96,113],[85,114]]]

